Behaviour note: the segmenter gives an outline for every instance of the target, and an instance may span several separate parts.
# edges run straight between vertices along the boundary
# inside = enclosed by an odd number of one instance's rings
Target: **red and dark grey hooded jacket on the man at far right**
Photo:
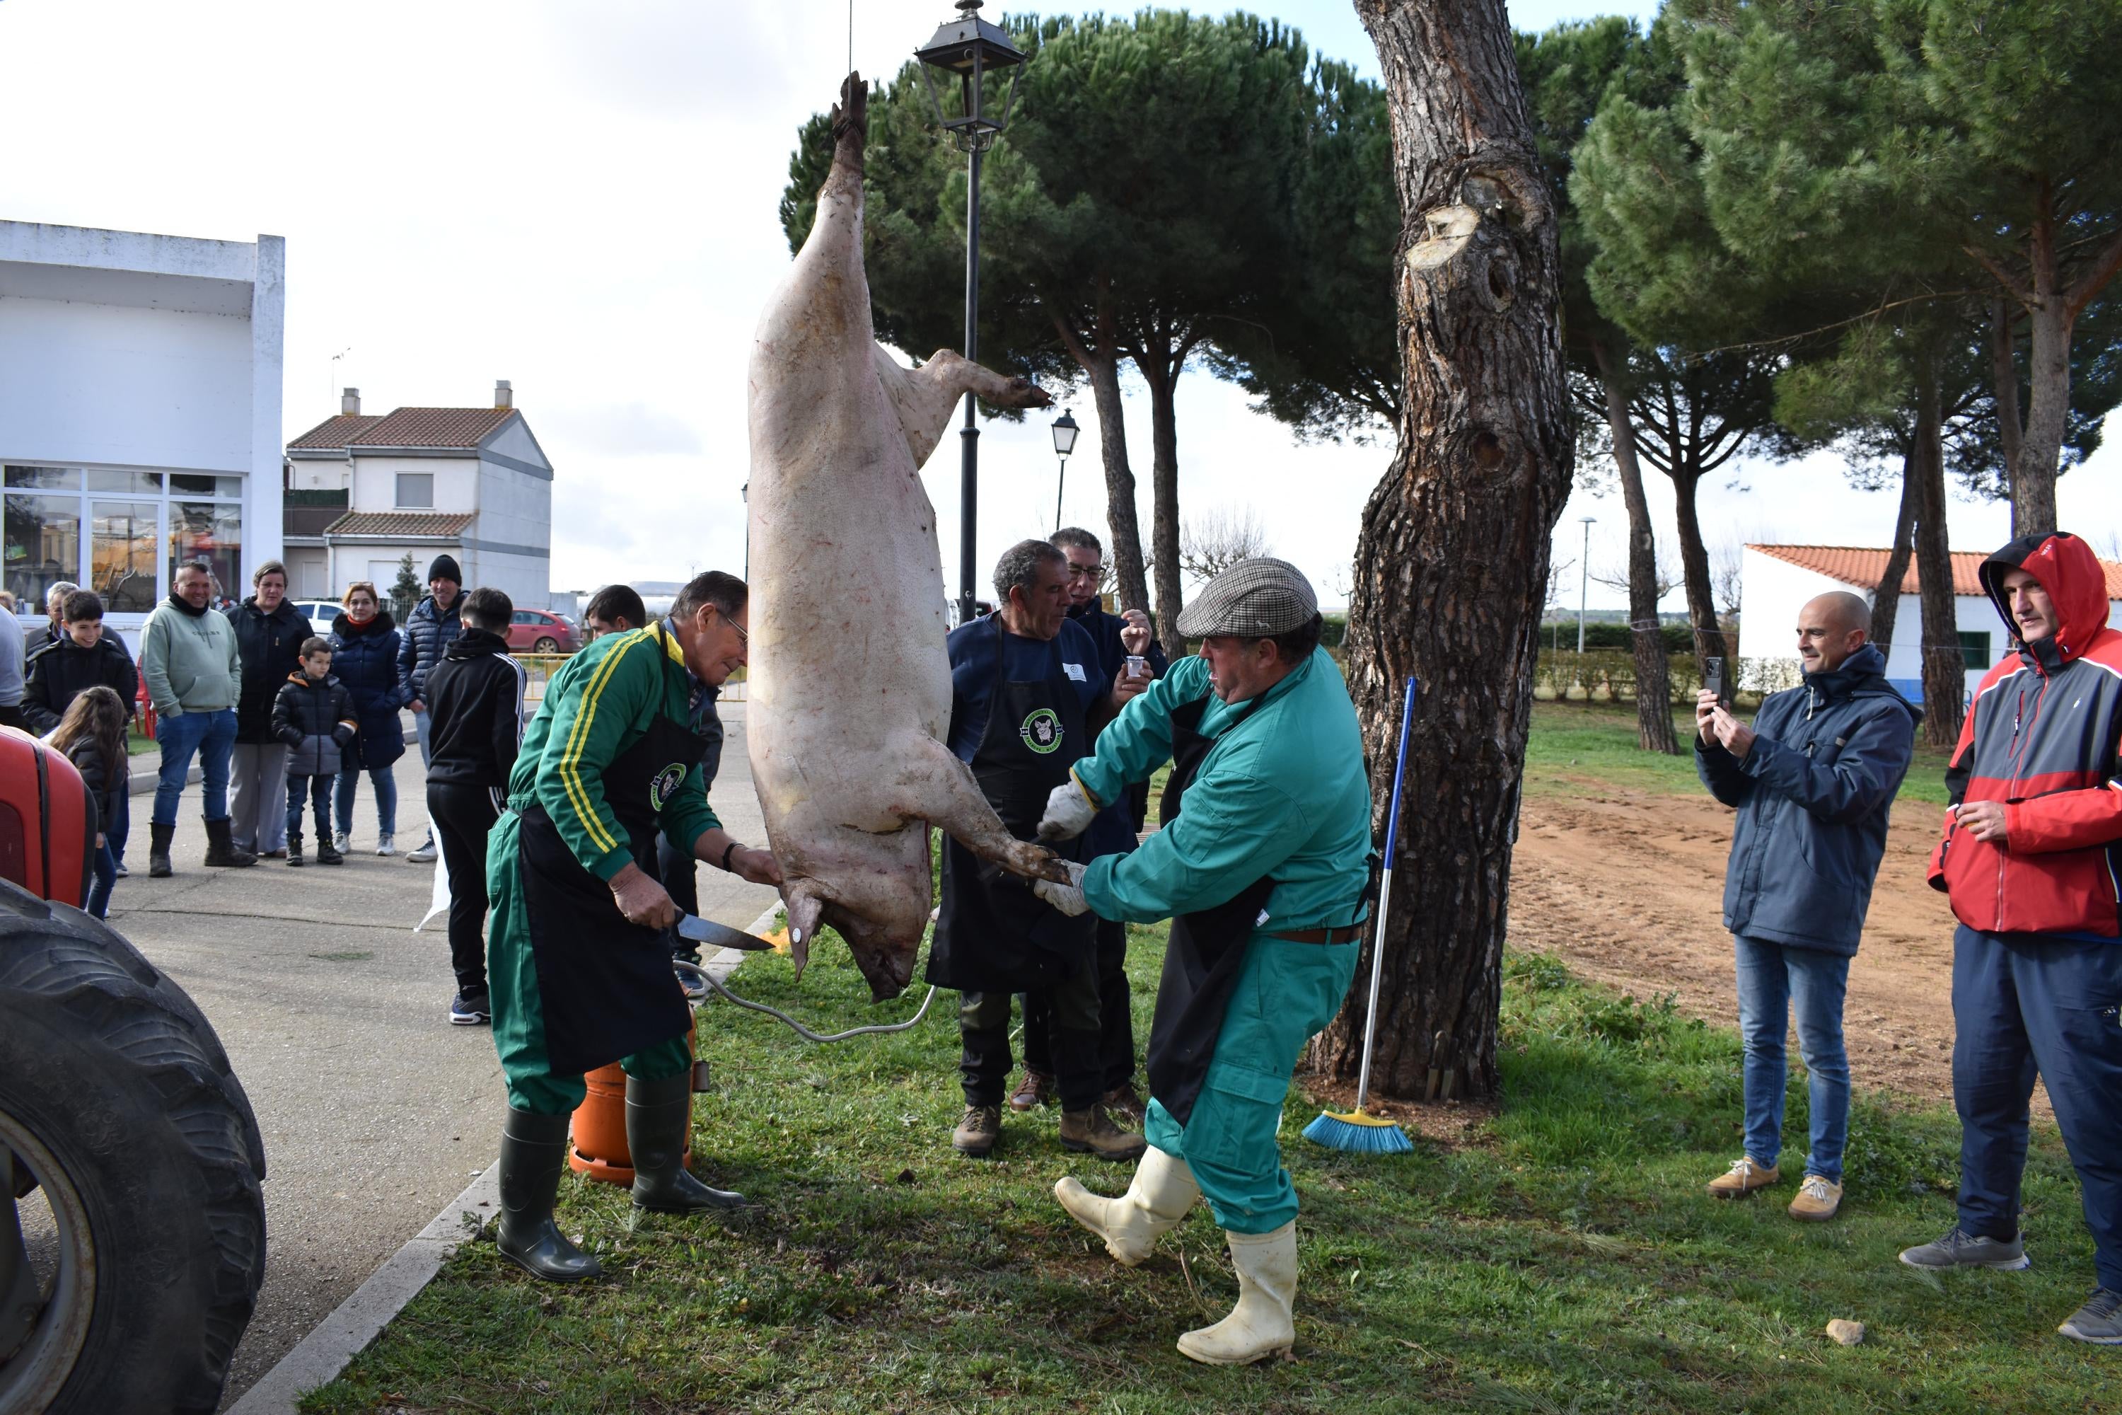
[[[2012,541],[1982,562],[1982,588],[2014,636],[1999,586],[2016,569],[2048,590],[2056,632],[1982,677],[1946,772],[1954,804],[2005,804],[2005,840],[1976,840],[1948,810],[1931,887],[1986,933],[2122,938],[2122,632],[2107,628],[2107,575],[2073,535]]]

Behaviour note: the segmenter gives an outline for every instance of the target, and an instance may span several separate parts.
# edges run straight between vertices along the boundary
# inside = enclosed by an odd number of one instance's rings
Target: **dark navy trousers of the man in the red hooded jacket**
[[[1952,933],[1952,1105],[1961,1230],[2018,1235],[2033,1076],[2048,1084],[2092,1230],[2092,1269],[2122,1292],[2122,942]]]

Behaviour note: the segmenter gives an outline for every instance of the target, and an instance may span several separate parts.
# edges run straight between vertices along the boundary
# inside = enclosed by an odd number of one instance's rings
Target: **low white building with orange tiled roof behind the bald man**
[[[1795,681],[1797,611],[1829,590],[1850,590],[1872,600],[1889,558],[1886,549],[1855,545],[1749,545],[1740,562],[1744,602],[1738,619],[1738,656],[1785,662]],[[1952,554],[1954,632],[1967,660],[1969,696],[1982,675],[2012,651],[2012,634],[1978,579],[1984,560],[1988,560],[1986,549]],[[2101,564],[2107,571],[2107,622],[2122,628],[2122,564],[2114,560]],[[1880,645],[1886,649],[1886,681],[1910,702],[1923,702],[1920,588],[1916,560],[1910,556],[1908,573],[1901,575],[1901,602],[1893,617],[1893,643]]]

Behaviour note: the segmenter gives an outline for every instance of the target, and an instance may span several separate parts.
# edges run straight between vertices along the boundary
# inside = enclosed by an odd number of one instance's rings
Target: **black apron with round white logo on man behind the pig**
[[[1036,840],[1046,798],[1069,779],[1069,766],[1091,755],[1091,732],[1082,698],[1061,672],[1059,641],[1048,645],[1044,679],[1010,681],[1002,615],[993,624],[995,681],[972,774],[1004,827],[1019,840]],[[1080,836],[1048,844],[1063,859],[1082,859]],[[1095,914],[1069,919],[1031,893],[1031,880],[944,836],[929,982],[961,993],[1023,993],[1091,967],[1095,948]]]

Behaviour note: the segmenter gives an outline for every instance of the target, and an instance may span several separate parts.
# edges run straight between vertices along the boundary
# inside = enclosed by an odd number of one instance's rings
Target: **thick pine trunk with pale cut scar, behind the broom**
[[[1407,751],[1384,938],[1367,942],[1314,1065],[1352,1080],[1369,948],[1384,948],[1373,1086],[1496,1093],[1496,1027],[1547,549],[1570,486],[1558,212],[1500,0],[1358,0],[1392,121],[1401,443],[1371,492],[1350,600],[1350,692],[1375,821]]]

